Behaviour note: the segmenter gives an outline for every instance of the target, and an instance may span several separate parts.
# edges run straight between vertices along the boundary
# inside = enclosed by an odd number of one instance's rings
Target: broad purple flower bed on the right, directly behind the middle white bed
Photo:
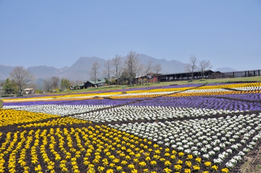
[[[256,111],[261,110],[261,103],[250,103],[244,101],[227,100],[213,97],[173,97],[173,98],[155,98],[144,100],[130,105],[137,106],[171,106],[171,107],[194,107],[213,110],[230,111]]]

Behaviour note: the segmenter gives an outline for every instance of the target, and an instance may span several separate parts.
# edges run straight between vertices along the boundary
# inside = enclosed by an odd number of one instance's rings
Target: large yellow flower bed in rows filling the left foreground
[[[20,135],[19,139],[18,135]],[[30,163],[26,162],[28,160],[26,157],[29,156],[27,152],[32,142],[30,160],[31,164],[35,165],[34,171],[39,173],[45,171],[53,173],[57,169],[61,172],[78,173],[80,172],[79,164],[85,165],[87,172],[156,172],[154,169],[157,165],[165,166],[161,170],[163,172],[200,171],[203,166],[209,168],[209,171],[219,170],[210,161],[203,162],[201,158],[194,158],[192,155],[185,156],[184,153],[170,148],[164,149],[151,141],[104,125],[71,127],[70,129],[63,128],[63,130],[60,128],[37,129],[30,132],[15,132],[11,136],[11,132],[6,134],[5,142],[0,148],[0,172],[6,170],[3,167],[6,162],[4,156],[9,153],[9,172],[15,172],[16,155],[20,156],[18,163],[23,167],[24,172],[31,172],[28,166]],[[40,153],[40,156],[37,153]],[[39,157],[42,158],[46,167],[41,167]],[[59,162],[59,168],[55,168],[55,162]]]

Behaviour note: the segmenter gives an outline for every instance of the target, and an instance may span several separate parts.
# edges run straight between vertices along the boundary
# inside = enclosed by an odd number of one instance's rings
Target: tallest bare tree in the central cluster
[[[128,78],[129,78],[129,85],[132,86],[132,79],[134,77],[134,67],[138,63],[139,54],[136,53],[135,51],[130,51],[127,54],[127,59],[125,60],[125,65],[128,69]]]

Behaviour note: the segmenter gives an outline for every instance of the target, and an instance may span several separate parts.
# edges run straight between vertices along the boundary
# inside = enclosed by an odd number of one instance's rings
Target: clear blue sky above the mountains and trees
[[[261,1],[0,0],[0,64],[62,68],[130,50],[261,69]]]

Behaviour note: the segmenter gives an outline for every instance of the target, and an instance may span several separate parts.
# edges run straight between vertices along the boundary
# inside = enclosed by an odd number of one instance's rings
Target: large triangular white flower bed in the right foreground
[[[227,116],[225,119],[209,118],[184,121],[172,121],[165,123],[129,123],[122,125],[110,125],[120,131],[147,138],[158,144],[175,148],[186,154],[201,155],[214,158],[215,164],[221,164],[231,154],[238,153],[237,157],[231,159],[227,166],[235,165],[234,160],[240,160],[244,153],[248,153],[261,139],[261,114],[259,116],[240,115],[238,117]],[[253,134],[259,132],[255,137]],[[241,140],[240,139],[244,139]],[[236,141],[236,142],[235,142]],[[245,145],[242,151],[238,148]],[[220,153],[221,148],[226,152]]]

